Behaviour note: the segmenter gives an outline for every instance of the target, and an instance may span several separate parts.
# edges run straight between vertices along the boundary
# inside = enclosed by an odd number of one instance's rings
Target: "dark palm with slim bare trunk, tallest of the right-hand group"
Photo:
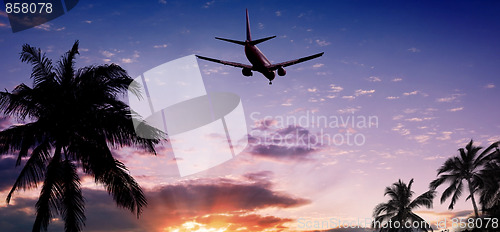
[[[437,179],[430,183],[431,189],[436,189],[438,186],[448,182],[450,186],[446,188],[441,195],[441,204],[451,196],[451,203],[448,209],[453,209],[458,198],[462,195],[463,181],[467,182],[469,188],[469,197],[474,207],[474,215],[479,217],[478,207],[474,197],[474,193],[483,186],[481,178],[481,170],[484,165],[490,160],[492,153],[490,151],[497,147],[499,142],[491,144],[483,152],[479,153],[482,147],[476,147],[471,140],[464,148],[458,149],[459,155],[448,158],[443,166],[438,171]],[[467,199],[468,199],[467,198]]]

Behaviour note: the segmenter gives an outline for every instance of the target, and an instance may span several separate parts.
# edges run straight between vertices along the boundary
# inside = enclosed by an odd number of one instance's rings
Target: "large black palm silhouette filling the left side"
[[[146,198],[123,163],[110,150],[137,146],[155,152],[161,132],[147,127],[158,139],[143,139],[134,132],[128,106],[119,100],[132,79],[115,64],[75,70],[76,41],[55,66],[40,49],[23,45],[21,61],[33,66],[33,87],[20,84],[0,92],[0,110],[23,124],[0,132],[0,155],[17,153],[24,163],[7,196],[43,182],[36,202],[33,231],[46,231],[60,215],[66,232],[82,230],[84,199],[77,170],[94,177],[118,206],[141,214]],[[139,94],[135,84],[131,90]],[[25,162],[24,162],[25,161]]]

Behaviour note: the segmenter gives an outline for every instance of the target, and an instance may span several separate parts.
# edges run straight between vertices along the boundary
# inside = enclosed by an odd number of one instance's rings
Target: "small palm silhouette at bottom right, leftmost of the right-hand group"
[[[412,184],[413,179],[410,180],[408,185],[399,180],[392,184],[392,186],[385,188],[384,196],[388,195],[390,200],[378,204],[373,210],[374,222],[372,226],[374,228],[379,228],[379,231],[388,232],[412,231],[412,228],[406,228],[405,225],[410,223],[413,226],[413,222],[418,222],[419,227],[414,227],[413,229],[421,231],[430,229],[432,231],[430,225],[412,211],[421,206],[428,209],[432,208],[432,201],[436,193],[434,190],[429,190],[412,200],[414,194],[411,190]],[[395,222],[398,222],[399,226],[395,225]]]

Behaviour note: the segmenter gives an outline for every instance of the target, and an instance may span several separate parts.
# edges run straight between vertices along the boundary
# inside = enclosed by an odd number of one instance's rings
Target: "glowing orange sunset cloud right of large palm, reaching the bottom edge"
[[[310,201],[274,191],[269,181],[271,174],[259,172],[232,179],[192,179],[160,187],[148,194],[150,206],[144,212],[143,220],[147,220],[151,228],[156,228],[155,231],[179,228],[192,231],[221,226],[230,231],[242,227],[264,231],[284,227],[283,223],[290,222],[290,219],[261,216],[255,212],[268,208],[295,208]],[[190,226],[193,227],[186,228]]]

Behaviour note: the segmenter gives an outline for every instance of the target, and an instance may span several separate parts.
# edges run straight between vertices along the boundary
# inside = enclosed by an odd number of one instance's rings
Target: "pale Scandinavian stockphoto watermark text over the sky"
[[[255,124],[264,124],[265,129],[256,129],[250,136],[257,144],[278,146],[362,146],[366,143],[364,130],[378,128],[375,115],[319,115],[311,111],[304,114],[271,116],[261,112],[250,113]],[[268,130],[273,127],[276,130]]]

